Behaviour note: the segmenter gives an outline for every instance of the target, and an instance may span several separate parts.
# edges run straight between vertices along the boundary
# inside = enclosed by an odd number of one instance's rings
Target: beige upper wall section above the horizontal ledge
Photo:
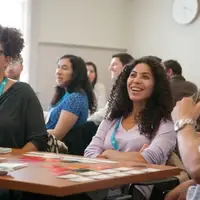
[[[129,0],[40,0],[39,41],[126,48]]]

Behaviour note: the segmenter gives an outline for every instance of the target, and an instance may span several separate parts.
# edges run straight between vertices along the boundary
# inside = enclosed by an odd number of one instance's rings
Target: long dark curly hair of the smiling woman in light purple
[[[162,64],[151,56],[142,57],[134,63],[126,65],[113,85],[108,100],[106,118],[114,120],[127,117],[134,109],[127,91],[127,79],[139,63],[147,64],[150,67],[155,80],[152,95],[139,114],[140,134],[153,139],[161,121],[171,120],[173,101],[170,85]]]

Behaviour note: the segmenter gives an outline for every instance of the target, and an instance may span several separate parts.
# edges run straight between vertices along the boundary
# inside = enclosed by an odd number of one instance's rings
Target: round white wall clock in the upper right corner
[[[173,17],[179,24],[188,24],[195,19],[198,9],[198,0],[174,0]]]

